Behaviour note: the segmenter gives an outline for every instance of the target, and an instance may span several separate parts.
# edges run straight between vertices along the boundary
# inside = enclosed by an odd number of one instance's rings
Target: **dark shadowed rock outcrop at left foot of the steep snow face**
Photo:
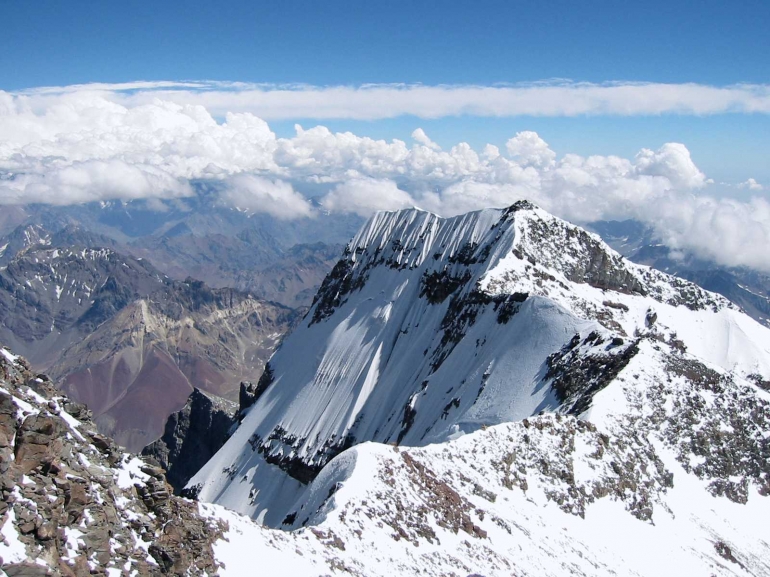
[[[163,436],[142,451],[167,471],[175,493],[214,456],[236,423],[237,405],[194,389],[180,411],[166,421]]]

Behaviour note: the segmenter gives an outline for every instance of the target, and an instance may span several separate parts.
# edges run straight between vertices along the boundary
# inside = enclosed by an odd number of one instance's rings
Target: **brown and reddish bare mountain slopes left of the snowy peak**
[[[139,451],[194,387],[235,398],[298,315],[110,249],[37,246],[0,271],[0,320],[0,338]]]

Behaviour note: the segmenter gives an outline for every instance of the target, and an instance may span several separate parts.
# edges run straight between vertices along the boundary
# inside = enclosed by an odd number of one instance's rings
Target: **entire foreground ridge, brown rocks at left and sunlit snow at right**
[[[603,348],[589,337],[571,350]],[[160,468],[3,350],[2,571],[227,577],[258,559],[297,577],[768,574],[770,394],[654,333],[637,346],[589,421],[343,452],[284,519],[291,531],[174,497]]]

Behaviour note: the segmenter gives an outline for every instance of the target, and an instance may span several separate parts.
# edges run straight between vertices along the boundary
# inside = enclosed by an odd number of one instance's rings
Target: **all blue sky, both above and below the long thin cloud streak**
[[[4,0],[0,19],[0,90],[10,92],[140,79],[354,87],[549,79],[721,87],[770,79],[766,0]],[[560,155],[632,158],[643,147],[683,142],[717,182],[770,184],[765,113],[269,119],[279,136],[292,135],[295,121],[407,141],[422,127],[445,148],[502,147],[534,130]]]

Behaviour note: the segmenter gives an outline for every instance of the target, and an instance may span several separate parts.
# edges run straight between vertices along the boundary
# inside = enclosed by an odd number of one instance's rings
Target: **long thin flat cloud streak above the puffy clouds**
[[[250,112],[267,120],[351,118],[373,120],[412,115],[577,116],[770,113],[770,86],[546,81],[495,86],[264,85],[234,82],[132,82],[47,87],[19,93],[33,109],[68,93],[99,92],[135,106],[156,98],[202,105],[213,114]]]

